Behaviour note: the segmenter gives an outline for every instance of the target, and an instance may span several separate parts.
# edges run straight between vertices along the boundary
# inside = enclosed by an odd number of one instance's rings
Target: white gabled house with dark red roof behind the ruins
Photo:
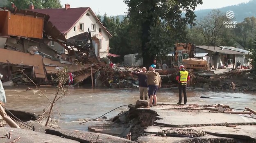
[[[66,39],[84,33],[88,31],[88,28],[91,29],[91,36],[97,37],[100,41],[97,44],[100,49],[100,58],[108,55],[109,38],[112,35],[90,7],[70,8],[69,4],[65,4],[63,9],[34,9],[34,6],[30,5],[29,10],[50,15],[50,21],[65,35]],[[49,45],[60,53],[65,52],[64,48],[57,42],[51,41]]]

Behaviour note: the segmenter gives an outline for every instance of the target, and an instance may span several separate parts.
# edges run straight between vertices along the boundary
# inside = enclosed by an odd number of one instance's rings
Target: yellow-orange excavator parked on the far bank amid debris
[[[181,64],[188,69],[208,69],[208,62],[204,59],[195,57],[195,44],[192,43],[176,43],[174,45],[173,67],[178,68]]]

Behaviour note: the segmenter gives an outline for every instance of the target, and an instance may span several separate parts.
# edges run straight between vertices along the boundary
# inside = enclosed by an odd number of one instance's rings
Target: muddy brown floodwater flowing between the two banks
[[[7,103],[5,107],[11,110],[22,110],[42,114],[43,109],[48,108],[49,101],[38,89],[25,91],[27,86],[5,87]],[[51,100],[55,95],[55,88],[40,87]],[[179,99],[177,89],[160,89],[157,93],[158,102],[177,103]],[[197,104],[227,104],[231,108],[244,109],[245,107],[256,110],[256,93],[254,92],[214,92],[202,89],[189,89],[188,103]],[[200,98],[201,96],[213,97]],[[229,96],[229,97],[227,97]],[[222,98],[225,97],[225,98]],[[230,98],[240,97],[240,98]],[[68,87],[68,94],[62,100],[57,101],[57,107],[61,113],[61,128],[87,130],[89,125],[98,124],[99,121],[91,121],[79,125],[79,119],[94,119],[114,108],[126,104],[136,103],[139,99],[138,88],[84,88]],[[121,111],[129,110],[127,106],[118,108],[105,116],[111,118]]]

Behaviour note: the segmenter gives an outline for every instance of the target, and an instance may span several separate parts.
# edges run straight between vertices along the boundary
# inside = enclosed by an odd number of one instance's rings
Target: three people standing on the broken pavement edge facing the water
[[[157,106],[156,92],[161,88],[162,83],[161,77],[155,69],[156,65],[152,64],[148,69],[149,71],[147,71],[146,67],[143,67],[139,72],[132,72],[138,76],[140,100],[143,100],[143,97],[144,100],[147,100],[147,97],[149,97],[150,107]],[[190,76],[183,65],[179,66],[176,80],[179,82],[179,102],[177,104],[182,102],[182,92],[184,94],[184,104],[187,104],[186,87]]]

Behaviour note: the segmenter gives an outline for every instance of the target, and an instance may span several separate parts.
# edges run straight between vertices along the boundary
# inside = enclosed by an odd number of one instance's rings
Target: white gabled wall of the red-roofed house
[[[87,15],[87,13],[89,15]],[[105,31],[104,27],[101,26],[101,24],[97,21],[97,19],[93,16],[93,13],[91,11],[88,11],[87,13],[84,13],[82,17],[75,23],[76,30],[73,30],[73,27],[66,33],[67,36],[66,38],[73,37],[75,35],[88,32],[88,28],[91,30],[91,36],[93,37],[94,35],[98,35],[97,38],[100,39],[102,42],[102,46],[100,48],[100,58],[106,57],[107,54],[109,53],[109,34]],[[79,30],[79,24],[84,23],[84,30],[81,31]],[[95,31],[92,29],[92,24],[95,24]],[[102,33],[99,32],[99,29],[102,29]],[[62,49],[62,46],[59,45],[58,43],[54,43],[54,48],[55,50],[61,52],[60,49]]]

